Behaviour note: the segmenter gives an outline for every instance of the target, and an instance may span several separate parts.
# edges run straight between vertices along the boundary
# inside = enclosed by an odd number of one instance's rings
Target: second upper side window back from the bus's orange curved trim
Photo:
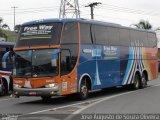
[[[105,44],[105,45],[109,44],[107,27],[95,25],[94,32],[97,44]]]

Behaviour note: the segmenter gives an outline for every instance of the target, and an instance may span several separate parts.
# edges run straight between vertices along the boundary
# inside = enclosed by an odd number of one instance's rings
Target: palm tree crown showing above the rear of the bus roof
[[[139,29],[147,29],[147,30],[152,29],[152,25],[147,20],[146,21],[145,20],[140,20],[139,23],[133,24],[133,25],[136,26]]]

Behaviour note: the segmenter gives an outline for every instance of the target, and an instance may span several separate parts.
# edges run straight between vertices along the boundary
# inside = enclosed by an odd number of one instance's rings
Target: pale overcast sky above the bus
[[[68,0],[74,1],[74,0]],[[160,27],[160,0],[79,0],[81,18],[90,19],[92,2],[101,2],[94,8],[95,20],[131,26],[139,20],[148,20],[153,29]],[[14,11],[16,24],[27,21],[58,18],[61,0],[0,0],[0,17],[13,29]],[[71,2],[72,3],[72,2]]]

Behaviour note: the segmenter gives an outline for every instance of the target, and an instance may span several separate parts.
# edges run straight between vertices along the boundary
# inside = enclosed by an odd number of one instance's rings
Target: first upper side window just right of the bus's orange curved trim
[[[92,44],[92,28],[90,24],[80,23],[81,43]]]

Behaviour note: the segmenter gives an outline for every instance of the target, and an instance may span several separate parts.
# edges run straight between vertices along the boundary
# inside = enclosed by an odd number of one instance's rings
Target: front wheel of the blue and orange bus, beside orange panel
[[[88,83],[86,80],[82,80],[78,96],[81,100],[85,100],[88,98]]]

